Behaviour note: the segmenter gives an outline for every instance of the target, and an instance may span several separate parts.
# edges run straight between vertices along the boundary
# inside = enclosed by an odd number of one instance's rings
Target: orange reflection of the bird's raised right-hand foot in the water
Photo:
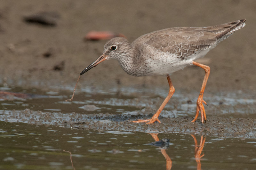
[[[197,163],[197,170],[201,170],[201,158],[204,156],[201,155],[203,148],[204,148],[204,142],[205,142],[205,137],[203,135],[201,136],[200,144],[197,144],[196,137],[194,135],[191,135],[194,138],[195,141],[195,159]]]

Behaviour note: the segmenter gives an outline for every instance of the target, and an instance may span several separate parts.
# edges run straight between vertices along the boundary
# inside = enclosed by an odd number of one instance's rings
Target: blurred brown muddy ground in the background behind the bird
[[[0,84],[35,88],[74,87],[79,73],[98,58],[107,40],[84,41],[87,32],[123,33],[132,42],[142,34],[176,26],[209,26],[246,18],[246,26],[200,62],[211,67],[207,91],[255,93],[255,1],[1,1]],[[24,17],[57,14],[55,26]],[[188,66],[171,76],[176,90],[199,91],[204,71]],[[133,77],[116,60],[100,63],[81,77],[79,88],[159,87],[165,77]]]

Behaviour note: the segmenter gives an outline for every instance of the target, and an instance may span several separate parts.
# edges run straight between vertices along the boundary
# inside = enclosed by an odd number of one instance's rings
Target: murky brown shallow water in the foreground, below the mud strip
[[[254,169],[256,163],[256,139],[202,136],[204,156],[196,161],[192,135],[158,134],[170,139],[164,154],[145,145],[155,140],[144,132],[0,124],[1,169]],[[201,136],[195,138],[198,148]]]

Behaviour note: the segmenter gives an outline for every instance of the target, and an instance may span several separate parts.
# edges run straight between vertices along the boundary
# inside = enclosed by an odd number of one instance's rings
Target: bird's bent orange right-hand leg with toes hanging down
[[[206,114],[205,114],[203,103],[207,105],[207,103],[203,100],[203,96],[204,96],[204,89],[205,89],[205,86],[206,86],[206,83],[207,83],[207,80],[208,80],[208,77],[209,77],[209,74],[210,74],[210,67],[206,66],[206,65],[203,65],[203,64],[200,64],[200,63],[197,63],[195,61],[193,61],[192,64],[194,64],[195,66],[203,68],[204,71],[205,71],[202,88],[201,88],[200,94],[199,94],[197,102],[196,102],[196,116],[191,121],[191,122],[196,121],[196,119],[198,117],[198,114],[199,114],[199,111],[200,111],[201,112],[201,120],[202,120],[202,124],[203,124],[204,121],[206,122]]]

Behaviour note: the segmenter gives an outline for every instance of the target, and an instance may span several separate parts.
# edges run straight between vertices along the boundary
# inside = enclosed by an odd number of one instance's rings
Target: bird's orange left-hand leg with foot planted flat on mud
[[[157,121],[157,122],[161,123],[160,120],[158,119],[158,116],[160,115],[161,111],[164,109],[164,106],[171,99],[173,93],[175,92],[175,89],[172,85],[172,81],[171,81],[171,78],[170,78],[169,75],[167,75],[167,80],[168,80],[168,83],[169,83],[169,86],[170,86],[169,93],[168,93],[168,96],[164,99],[164,102],[161,104],[159,109],[156,111],[156,113],[150,119],[147,119],[147,120],[139,119],[137,121],[131,121],[131,122],[133,122],[133,123],[147,122],[147,124],[152,124],[155,121]]]

